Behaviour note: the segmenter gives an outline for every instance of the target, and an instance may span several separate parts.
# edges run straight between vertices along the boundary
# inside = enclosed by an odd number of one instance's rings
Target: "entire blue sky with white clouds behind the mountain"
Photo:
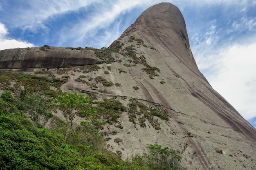
[[[0,50],[108,47],[161,0],[0,0]],[[167,0],[211,86],[256,127],[256,0]]]

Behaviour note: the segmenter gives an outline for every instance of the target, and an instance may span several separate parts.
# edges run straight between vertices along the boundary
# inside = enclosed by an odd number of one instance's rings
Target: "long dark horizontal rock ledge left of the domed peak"
[[[102,63],[92,50],[61,47],[6,49],[0,51],[0,68],[61,68]]]

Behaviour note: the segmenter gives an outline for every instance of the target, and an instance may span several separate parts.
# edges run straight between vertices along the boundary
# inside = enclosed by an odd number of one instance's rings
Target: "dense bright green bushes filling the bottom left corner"
[[[88,122],[82,122],[79,133],[70,135],[67,142],[58,129],[36,128],[22,111],[2,97],[0,106],[0,167],[3,169],[125,170],[134,167],[100,148],[96,141],[102,137]],[[71,141],[72,144],[68,144]]]

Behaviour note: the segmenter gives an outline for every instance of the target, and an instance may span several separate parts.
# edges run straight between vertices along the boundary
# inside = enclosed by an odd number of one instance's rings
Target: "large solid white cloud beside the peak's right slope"
[[[216,66],[207,79],[245,118],[256,116],[256,43],[219,49],[208,62]]]

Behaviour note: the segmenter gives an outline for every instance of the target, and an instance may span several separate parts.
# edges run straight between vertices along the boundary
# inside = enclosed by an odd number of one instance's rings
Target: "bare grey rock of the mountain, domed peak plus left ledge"
[[[157,143],[181,150],[182,159],[177,162],[177,168],[181,170],[256,169],[256,129],[213,90],[198,70],[190,50],[184,18],[177,7],[160,3],[148,8],[109,48],[115,49],[112,56],[118,62],[98,64],[101,69],[84,74],[93,78],[102,76],[119,86],[104,86],[101,83],[92,86],[74,81],[83,75],[77,71],[62,86],[62,90],[81,90],[100,99],[115,97],[125,106],[128,106],[129,99],[136,99],[151,108],[161,108],[169,116],[168,120],[155,117],[155,122],[146,119],[145,126],[141,127],[139,118],[143,114],[136,115],[132,122],[129,121],[129,112],[124,111],[119,118],[122,129],[114,124],[103,130],[117,131],[111,136],[112,140],[106,142],[111,151],[121,150],[121,157],[126,159],[132,153],[141,154],[146,144]],[[25,61],[23,58],[26,55],[22,50],[25,49],[1,51],[1,67],[36,67],[18,64]],[[48,61],[53,60],[52,57],[63,61],[62,56],[65,56],[65,66],[99,62],[88,51],[84,54],[85,58],[92,62],[82,60],[82,55],[77,54],[79,57],[74,63],[68,57],[70,53],[62,50],[62,53],[60,50],[52,51],[52,55],[44,57]],[[40,68],[54,67],[56,62],[45,66],[44,60],[35,55],[48,52],[37,52],[34,48],[26,54],[31,53],[29,59],[38,61]],[[7,55],[13,58],[2,58]],[[71,73],[72,70],[68,72],[69,75]],[[56,74],[58,76],[61,77]],[[84,80],[88,81],[87,78]],[[114,142],[114,138],[122,139],[122,144]],[[218,152],[220,150],[222,153]]]

